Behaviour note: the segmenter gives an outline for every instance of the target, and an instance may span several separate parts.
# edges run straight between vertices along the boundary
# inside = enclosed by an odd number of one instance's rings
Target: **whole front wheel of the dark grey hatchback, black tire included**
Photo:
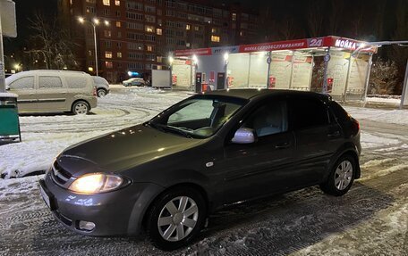
[[[207,205],[199,191],[179,187],[160,194],[147,215],[146,229],[157,248],[172,251],[200,233],[207,218]]]

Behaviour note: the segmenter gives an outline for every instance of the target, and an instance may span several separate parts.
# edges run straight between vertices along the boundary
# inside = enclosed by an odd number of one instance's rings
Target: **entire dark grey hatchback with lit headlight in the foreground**
[[[359,123],[327,95],[237,89],[194,95],[143,124],[64,150],[40,180],[65,227],[191,242],[225,205],[360,178]],[[322,205],[323,206],[323,205]]]

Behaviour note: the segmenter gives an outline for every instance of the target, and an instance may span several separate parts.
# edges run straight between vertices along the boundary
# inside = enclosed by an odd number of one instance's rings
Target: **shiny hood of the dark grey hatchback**
[[[64,150],[58,164],[72,176],[129,169],[202,143],[143,125],[89,139]]]

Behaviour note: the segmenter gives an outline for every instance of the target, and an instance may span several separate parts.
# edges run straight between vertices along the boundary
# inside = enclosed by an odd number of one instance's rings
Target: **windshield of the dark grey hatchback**
[[[219,95],[198,95],[177,103],[145,125],[163,132],[192,138],[213,136],[247,103]]]

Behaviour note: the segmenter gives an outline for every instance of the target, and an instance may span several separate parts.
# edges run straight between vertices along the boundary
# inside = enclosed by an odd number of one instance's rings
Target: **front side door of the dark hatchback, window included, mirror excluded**
[[[284,100],[261,103],[243,120],[257,140],[251,144],[226,142],[222,194],[226,203],[285,190],[293,170],[294,136],[287,127]],[[289,184],[288,184],[289,182]]]

